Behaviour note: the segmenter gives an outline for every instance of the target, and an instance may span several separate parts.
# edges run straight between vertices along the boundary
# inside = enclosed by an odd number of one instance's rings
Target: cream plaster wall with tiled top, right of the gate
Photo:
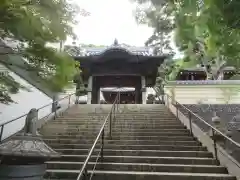
[[[174,85],[165,92],[181,104],[240,104],[240,85]]]

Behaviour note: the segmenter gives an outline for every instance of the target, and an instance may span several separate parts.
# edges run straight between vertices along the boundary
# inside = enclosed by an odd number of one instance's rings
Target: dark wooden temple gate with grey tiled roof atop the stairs
[[[74,58],[80,62],[88,104],[100,103],[100,88],[104,87],[135,88],[134,92],[124,92],[129,96],[129,103],[134,100],[134,103],[146,104],[146,88],[155,85],[158,67],[166,56],[154,56],[146,47],[123,47],[115,40],[110,47],[89,48],[84,55]],[[111,102],[114,92],[103,91],[103,95]]]

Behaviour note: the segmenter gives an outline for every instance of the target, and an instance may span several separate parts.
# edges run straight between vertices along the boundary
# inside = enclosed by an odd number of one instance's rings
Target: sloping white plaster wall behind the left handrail
[[[5,68],[3,65],[0,64],[1,69]],[[8,69],[6,69],[8,70]],[[16,103],[11,103],[9,105],[1,104],[0,103],[0,124],[11,121],[14,118],[18,118],[24,114],[27,114],[32,108],[40,108],[43,107],[46,104],[51,104],[52,99],[36,89],[34,86],[30,85],[27,81],[23,80],[21,77],[16,75],[15,73],[9,71],[9,74],[21,85],[27,87],[29,91],[20,89],[19,93],[17,94],[11,94],[12,99]],[[71,92],[71,91],[70,91]],[[69,94],[68,92],[67,94]],[[64,97],[66,94],[61,94],[60,97]],[[72,96],[70,99],[70,103],[73,104],[75,101],[75,96]],[[68,105],[69,99],[66,98],[62,101],[60,101],[60,105],[62,107]],[[41,110],[39,110],[38,117],[39,119],[46,117],[51,113],[52,106],[49,105],[48,107],[45,107]],[[26,116],[11,122],[4,126],[3,128],[3,138],[5,139],[9,137],[10,135],[18,132],[21,130],[25,124],[25,118]],[[2,128],[2,127],[0,127]]]

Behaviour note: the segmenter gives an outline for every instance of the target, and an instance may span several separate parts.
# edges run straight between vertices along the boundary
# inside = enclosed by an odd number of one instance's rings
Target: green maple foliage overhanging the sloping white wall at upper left
[[[1,63],[8,64],[6,55],[9,54],[24,57],[27,65],[22,68],[30,66],[52,91],[62,91],[78,68],[68,54],[47,46],[47,43],[60,43],[74,35],[78,11],[79,8],[69,0],[1,0]],[[14,47],[10,45],[13,42]],[[7,80],[2,76],[2,87],[4,84],[10,86],[3,81]]]

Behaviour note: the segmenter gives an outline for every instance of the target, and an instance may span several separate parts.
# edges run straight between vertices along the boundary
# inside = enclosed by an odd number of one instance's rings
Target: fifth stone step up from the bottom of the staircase
[[[90,149],[92,144],[58,144],[51,143],[50,146],[54,149]],[[96,148],[100,148],[100,144],[96,145]],[[206,147],[203,146],[184,146],[180,145],[141,145],[141,144],[131,144],[131,145],[119,145],[119,144],[105,144],[104,148],[112,150],[169,150],[169,151],[207,151]]]

